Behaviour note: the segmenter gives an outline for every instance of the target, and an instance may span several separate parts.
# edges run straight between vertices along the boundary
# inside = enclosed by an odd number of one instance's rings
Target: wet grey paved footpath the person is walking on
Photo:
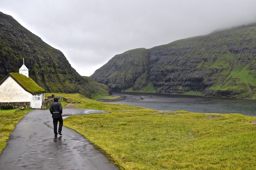
[[[63,116],[103,113],[63,109]],[[64,119],[65,124],[65,119]],[[0,155],[0,169],[118,169],[81,134],[63,126],[54,137],[49,110],[32,110],[16,124]]]

